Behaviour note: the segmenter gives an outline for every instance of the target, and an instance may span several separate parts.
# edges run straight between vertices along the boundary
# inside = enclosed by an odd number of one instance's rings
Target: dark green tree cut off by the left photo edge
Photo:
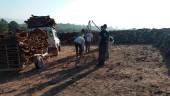
[[[4,19],[0,19],[0,33],[8,32],[8,22]]]

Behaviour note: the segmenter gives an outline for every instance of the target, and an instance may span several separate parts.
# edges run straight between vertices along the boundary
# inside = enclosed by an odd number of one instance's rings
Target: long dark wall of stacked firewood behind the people
[[[138,29],[138,30],[117,30],[110,31],[116,44],[152,44],[160,51],[170,56],[170,29]],[[60,33],[62,44],[73,44],[78,33]],[[93,32],[93,44],[99,42],[99,32]]]

